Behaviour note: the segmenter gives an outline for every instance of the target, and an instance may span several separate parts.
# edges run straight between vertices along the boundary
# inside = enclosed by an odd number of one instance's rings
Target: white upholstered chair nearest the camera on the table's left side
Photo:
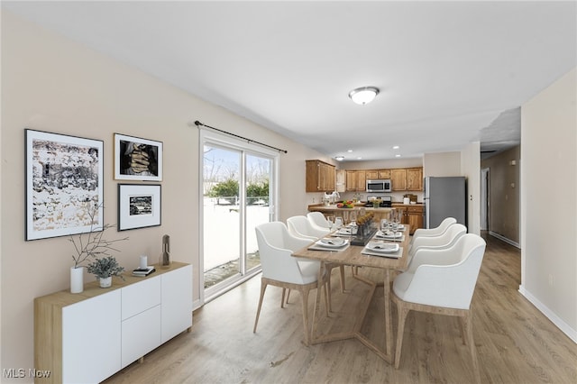
[[[261,297],[252,332],[256,333],[261,315],[262,298],[267,286],[282,288],[280,307],[284,306],[286,289],[295,289],[301,294],[305,344],[308,345],[310,334],[308,329],[308,294],[311,289],[315,289],[317,286],[320,263],[299,260],[292,256],[292,252],[306,247],[310,244],[310,240],[291,235],[287,226],[281,222],[260,224],[255,228],[255,231],[261,257],[262,277]],[[325,310],[328,315],[330,290],[326,288],[327,277],[328,274],[325,273],[323,287],[325,288]]]

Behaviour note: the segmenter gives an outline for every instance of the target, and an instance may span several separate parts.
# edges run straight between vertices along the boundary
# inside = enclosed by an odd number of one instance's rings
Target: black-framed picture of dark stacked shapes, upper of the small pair
[[[114,178],[162,181],[162,142],[114,133]]]

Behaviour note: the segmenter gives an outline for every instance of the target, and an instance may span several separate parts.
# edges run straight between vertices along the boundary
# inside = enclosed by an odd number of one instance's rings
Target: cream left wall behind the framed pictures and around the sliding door
[[[0,368],[33,368],[33,299],[69,288],[72,249],[67,239],[24,241],[25,127],[104,141],[108,224],[116,223],[117,211],[114,133],[163,142],[162,225],[123,233],[130,240],[119,243],[116,257],[127,270],[137,266],[140,254],[154,260],[160,255],[162,235],[168,233],[173,259],[193,265],[195,300],[200,289],[199,142],[197,128],[189,122],[199,120],[288,150],[280,154],[280,218],[303,211],[304,160],[318,158],[316,151],[5,10],[1,47]],[[85,281],[93,279],[85,276]]]

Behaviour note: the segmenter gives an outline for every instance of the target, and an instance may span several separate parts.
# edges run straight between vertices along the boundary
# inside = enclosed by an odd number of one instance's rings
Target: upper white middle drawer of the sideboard
[[[160,276],[143,279],[123,291],[123,320],[160,304]]]

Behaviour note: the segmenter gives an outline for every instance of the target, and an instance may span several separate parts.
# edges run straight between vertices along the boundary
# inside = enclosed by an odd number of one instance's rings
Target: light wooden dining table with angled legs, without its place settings
[[[357,339],[364,345],[366,345],[372,352],[375,352],[377,355],[380,356],[384,361],[389,363],[393,363],[394,353],[392,352],[391,345],[393,343],[393,336],[392,336],[392,323],[391,323],[391,313],[390,313],[390,275],[391,271],[394,270],[407,270],[408,267],[408,248],[410,242],[410,227],[408,224],[405,225],[405,230],[403,232],[403,237],[400,241],[397,240],[399,243],[399,251],[397,256],[391,257],[392,255],[388,255],[383,253],[382,256],[373,256],[373,255],[366,255],[363,254],[362,251],[364,249],[363,245],[352,245],[350,244],[351,238],[349,238],[349,245],[346,248],[343,247],[342,250],[334,249],[334,250],[318,250],[314,249],[315,242],[311,243],[309,246],[293,252],[294,257],[298,258],[306,258],[309,260],[320,261],[321,268],[319,270],[319,278],[318,278],[318,288],[316,289],[316,300],[315,300],[315,312],[313,316],[313,329],[311,335],[311,343],[329,343],[335,342],[340,340],[347,340],[347,339]],[[328,237],[328,236],[327,236]],[[343,236],[343,238],[347,238]],[[373,238],[372,240],[376,240]],[[388,242],[388,241],[385,241]],[[313,248],[313,249],[311,249]],[[337,332],[333,334],[318,334],[318,326],[320,321],[320,296],[322,292],[322,282],[323,282],[323,275],[325,274],[325,264],[327,263],[336,263],[336,264],[343,264],[343,265],[350,265],[353,266],[353,270],[356,270],[355,267],[362,267],[362,268],[374,268],[384,271],[384,279],[383,281],[373,281],[371,279],[367,279],[363,277],[359,272],[353,273],[353,279],[357,279],[362,283],[368,285],[369,290],[367,294],[362,297],[362,300],[359,302],[357,307],[354,311],[354,321],[353,327],[349,331],[344,332]],[[371,305],[372,297],[375,293],[377,287],[383,287],[383,300],[384,300],[384,314],[383,314],[383,321],[384,321],[384,329],[385,329],[385,348],[384,350],[380,348],[376,343],[371,341],[367,336],[362,334],[361,329],[364,323],[365,315]]]

